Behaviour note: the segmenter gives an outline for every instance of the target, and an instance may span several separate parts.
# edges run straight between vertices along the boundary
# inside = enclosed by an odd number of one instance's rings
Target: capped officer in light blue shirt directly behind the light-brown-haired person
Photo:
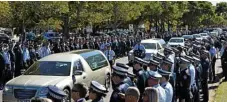
[[[147,86],[154,87],[158,89],[159,102],[166,102],[165,90],[160,86],[160,79],[162,76],[156,71],[148,71]]]

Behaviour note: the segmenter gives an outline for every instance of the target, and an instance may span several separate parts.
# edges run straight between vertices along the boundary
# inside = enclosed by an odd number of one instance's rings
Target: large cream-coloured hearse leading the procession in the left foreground
[[[98,50],[77,50],[46,56],[25,73],[8,81],[3,90],[4,102],[28,102],[33,97],[46,97],[47,86],[54,85],[71,99],[74,83],[90,86],[92,80],[110,86],[111,68]]]

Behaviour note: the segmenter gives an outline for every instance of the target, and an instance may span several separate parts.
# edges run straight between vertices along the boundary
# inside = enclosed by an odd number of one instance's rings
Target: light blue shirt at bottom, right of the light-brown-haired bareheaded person
[[[172,102],[173,98],[173,87],[169,82],[165,82],[161,84],[162,88],[165,89],[166,92],[166,102]]]

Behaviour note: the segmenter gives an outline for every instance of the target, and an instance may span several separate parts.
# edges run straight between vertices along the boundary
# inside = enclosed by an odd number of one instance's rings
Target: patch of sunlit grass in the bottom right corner
[[[214,102],[227,102],[227,82],[221,83],[218,87]]]

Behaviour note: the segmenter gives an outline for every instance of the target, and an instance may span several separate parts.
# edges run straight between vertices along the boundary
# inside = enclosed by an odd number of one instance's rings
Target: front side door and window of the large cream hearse
[[[75,76],[76,83],[83,82],[87,85],[90,84],[90,78],[84,70],[83,64],[80,60],[76,60],[73,63],[73,75]]]

